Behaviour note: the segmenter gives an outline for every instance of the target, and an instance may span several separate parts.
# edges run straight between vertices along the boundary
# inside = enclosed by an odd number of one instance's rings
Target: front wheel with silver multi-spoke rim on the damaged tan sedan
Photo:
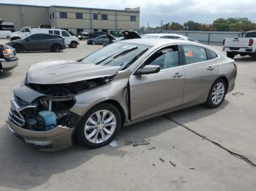
[[[116,106],[99,104],[83,116],[75,139],[83,147],[98,148],[113,141],[120,128],[121,114]]]

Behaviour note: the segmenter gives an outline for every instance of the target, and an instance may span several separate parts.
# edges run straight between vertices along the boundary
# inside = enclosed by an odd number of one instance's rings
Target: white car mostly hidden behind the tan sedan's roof
[[[182,39],[191,42],[198,42],[196,39],[188,38],[181,34],[144,34],[142,38],[146,39]]]

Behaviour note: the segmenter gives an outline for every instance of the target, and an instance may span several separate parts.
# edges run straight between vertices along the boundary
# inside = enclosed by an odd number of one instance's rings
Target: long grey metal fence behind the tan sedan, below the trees
[[[140,34],[181,34],[193,39],[197,39],[203,44],[222,44],[225,38],[235,38],[241,35],[241,32],[222,32],[222,31],[138,31]]]

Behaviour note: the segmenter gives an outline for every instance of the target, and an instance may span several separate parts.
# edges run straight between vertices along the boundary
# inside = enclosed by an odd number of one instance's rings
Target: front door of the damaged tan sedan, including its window
[[[143,66],[160,66],[158,73],[129,77],[132,120],[181,106],[184,66],[181,66],[181,52],[178,49],[178,45],[162,48],[143,63]]]

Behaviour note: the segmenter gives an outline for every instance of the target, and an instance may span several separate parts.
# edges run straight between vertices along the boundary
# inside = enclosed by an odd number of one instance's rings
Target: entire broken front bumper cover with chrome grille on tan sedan
[[[67,119],[70,123],[67,125],[56,124],[50,129],[29,128],[28,117],[24,112],[36,112],[39,105],[31,101],[42,98],[43,94],[37,93],[22,84],[15,85],[12,90],[14,90],[15,95],[12,98],[10,112],[6,121],[7,127],[12,133],[15,133],[16,136],[26,143],[33,144],[42,150],[55,151],[72,146],[73,132],[77,125],[76,122],[79,121],[78,115],[68,112],[65,118],[68,117]],[[18,98],[17,95],[21,95],[22,93],[22,97],[28,102]],[[24,97],[27,93],[29,93],[29,96]]]

